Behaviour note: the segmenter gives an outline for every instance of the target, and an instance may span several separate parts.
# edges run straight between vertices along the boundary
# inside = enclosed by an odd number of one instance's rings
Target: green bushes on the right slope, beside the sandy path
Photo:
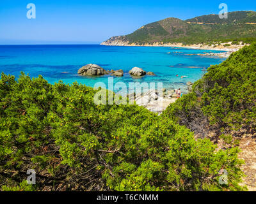
[[[255,132],[256,44],[208,68],[193,91],[168,107],[165,114],[197,133],[209,126],[217,126],[222,133],[241,128]]]

